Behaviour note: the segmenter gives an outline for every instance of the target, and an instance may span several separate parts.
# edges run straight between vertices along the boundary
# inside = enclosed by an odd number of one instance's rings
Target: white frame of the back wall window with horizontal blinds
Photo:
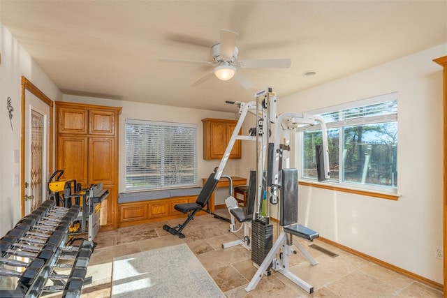
[[[188,188],[188,187],[196,187],[198,184],[198,124],[185,124],[185,123],[178,123],[178,122],[170,122],[170,121],[152,121],[152,120],[142,120],[142,119],[125,119],[124,121],[124,160],[125,160],[125,166],[124,166],[124,192],[131,193],[136,191],[156,191],[156,190],[163,190],[163,189],[175,189],[175,188]],[[193,144],[191,145],[191,151],[193,152],[192,162],[191,162],[191,171],[192,171],[192,181],[189,183],[180,183],[180,184],[169,184],[166,183],[166,176],[162,174],[170,174],[172,172],[166,172],[161,166],[159,169],[160,174],[160,183],[156,186],[149,186],[149,184],[145,184],[143,186],[129,186],[128,181],[128,154],[130,147],[128,148],[128,127],[129,125],[135,126],[135,125],[141,125],[141,126],[147,126],[147,131],[160,131],[163,132],[163,129],[161,127],[169,127],[169,128],[187,128],[187,129],[193,129],[193,137],[189,137],[189,140],[193,141]],[[150,127],[152,126],[152,127]],[[168,130],[170,131],[170,130]],[[149,133],[149,132],[146,132]],[[163,138],[162,138],[163,139]],[[161,140],[160,142],[163,142]],[[163,160],[170,160],[170,158],[166,158],[166,147],[160,146],[159,147],[160,152],[160,159],[161,163],[163,163]],[[146,157],[146,156],[145,156]]]

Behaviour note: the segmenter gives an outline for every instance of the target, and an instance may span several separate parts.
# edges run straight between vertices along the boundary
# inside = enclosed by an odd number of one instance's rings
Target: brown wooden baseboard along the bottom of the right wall
[[[386,269],[393,270],[393,271],[397,272],[398,274],[402,274],[402,275],[404,275],[406,277],[412,278],[415,281],[423,283],[424,285],[428,285],[429,287],[432,287],[432,288],[434,288],[436,290],[439,290],[441,292],[444,291],[444,285],[441,285],[441,283],[437,283],[437,282],[432,281],[432,280],[430,280],[428,278],[425,278],[423,276],[419,276],[418,274],[414,274],[413,272],[406,271],[405,269],[402,269],[400,267],[396,267],[395,265],[391,265],[391,264],[389,264],[387,262],[383,262],[382,260],[376,259],[376,258],[374,258],[374,257],[372,257],[370,255],[366,255],[365,253],[360,253],[360,251],[356,251],[356,250],[354,250],[352,248],[349,248],[349,247],[344,246],[342,244],[338,244],[337,242],[334,242],[332,240],[326,239],[324,237],[318,237],[318,240],[322,241],[322,242],[325,242],[327,244],[330,244],[331,246],[337,247],[337,248],[341,249],[342,251],[346,251],[346,252],[351,253],[353,255],[357,255],[358,257],[360,257],[362,259],[365,259],[365,260],[367,260],[369,262],[372,262],[372,263],[374,263],[376,265],[379,265],[381,267],[385,267]]]

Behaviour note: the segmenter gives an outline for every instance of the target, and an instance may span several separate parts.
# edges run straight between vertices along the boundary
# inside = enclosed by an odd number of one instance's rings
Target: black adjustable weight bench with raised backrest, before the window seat
[[[163,225],[163,230],[170,232],[173,235],[178,235],[179,238],[184,238],[184,234],[182,233],[182,230],[188,225],[190,221],[194,219],[194,215],[200,211],[204,210],[206,204],[208,204],[208,200],[211,198],[211,194],[214,191],[214,188],[216,188],[217,183],[219,183],[218,179],[214,179],[216,173],[211,173],[210,177],[208,177],[205,185],[202,188],[202,191],[198,194],[197,200],[195,203],[186,203],[186,204],[176,204],[174,206],[174,209],[177,211],[180,211],[184,214],[188,214],[188,217],[186,218],[186,221],[184,223],[176,225],[175,227],[171,228],[169,225]]]

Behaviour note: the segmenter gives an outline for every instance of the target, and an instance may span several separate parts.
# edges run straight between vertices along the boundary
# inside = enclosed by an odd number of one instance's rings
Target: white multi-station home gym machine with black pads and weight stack
[[[318,180],[330,177],[328,158],[328,137],[325,122],[321,117],[286,112],[277,114],[277,95],[272,89],[255,94],[256,101],[249,103],[227,102],[239,107],[240,118],[228,143],[226,154],[233,148],[235,140],[256,141],[256,195],[251,221],[247,221],[250,211],[242,212],[237,204],[228,198],[227,207],[232,216],[230,232],[236,232],[237,219],[244,226],[244,239],[223,244],[223,248],[241,244],[251,249],[251,260],[258,268],[245,290],[254,290],[263,274],[270,275],[270,269],[279,271],[309,293],[314,288],[289,271],[289,255],[296,253],[293,246],[305,255],[311,265],[318,264],[312,255],[293,236],[307,241],[318,238],[318,232],[298,224],[298,170],[290,168],[290,133],[303,124],[321,124],[323,144],[317,147]],[[249,135],[237,135],[247,112],[256,116],[256,127],[250,128]],[[282,140],[280,143],[279,140]],[[228,155],[224,155],[216,176],[223,171]],[[281,232],[273,244],[273,226],[270,223],[270,207],[279,206],[277,219]],[[247,228],[251,228],[251,239]]]

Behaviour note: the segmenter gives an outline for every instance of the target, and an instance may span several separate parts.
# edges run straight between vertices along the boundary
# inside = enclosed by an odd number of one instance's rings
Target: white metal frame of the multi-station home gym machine
[[[261,103],[259,103],[259,98],[261,96],[263,96],[263,100]],[[305,113],[287,112],[277,115],[277,95],[276,93],[272,92],[272,89],[257,92],[255,94],[255,98],[256,102],[253,101],[249,103],[227,101],[227,103],[233,103],[239,107],[240,118],[237,122],[230,142],[228,143],[228,147],[226,148],[221,163],[219,164],[219,167],[217,169],[217,177],[220,177],[219,175],[223,171],[223,168],[228,161],[228,156],[231,149],[233,148],[235,140],[256,140],[256,158],[258,164],[256,174],[255,205],[257,212],[256,210],[253,212],[251,223],[261,222],[265,226],[270,224],[269,216],[265,215],[268,214],[270,204],[265,205],[265,209],[267,210],[262,209],[263,198],[261,198],[261,195],[262,197],[264,197],[264,193],[268,194],[267,196],[270,199],[271,204],[278,204],[279,200],[281,200],[281,203],[285,205],[285,202],[293,202],[294,200],[293,203],[295,203],[295,207],[293,208],[296,209],[296,214],[292,214],[291,216],[289,216],[289,218],[286,218],[288,216],[287,211],[281,211],[281,213],[279,214],[279,224],[282,227],[281,233],[270,248],[270,251],[261,251],[261,255],[262,253],[267,253],[267,255],[265,255],[265,258],[263,258],[262,263],[259,264],[258,262],[254,262],[254,265],[255,267],[258,267],[258,270],[256,271],[256,274],[253,276],[245,290],[247,292],[254,290],[258,282],[261,280],[263,274],[266,274],[268,276],[270,275],[270,268],[272,267],[272,269],[274,269],[275,271],[279,271],[279,273],[286,276],[288,279],[293,281],[293,283],[299,285],[307,292],[312,293],[314,292],[313,286],[309,285],[309,283],[303,281],[298,276],[295,276],[295,274],[291,273],[291,271],[289,270],[289,256],[291,255],[291,253],[295,253],[293,245],[298,248],[298,250],[303,255],[305,255],[305,258],[307,258],[311,265],[318,264],[318,262],[316,262],[316,260],[312,258],[312,255],[310,255],[298,241],[295,241],[295,239],[293,239],[293,235],[307,241],[313,241],[319,236],[319,234],[303,225],[299,225],[296,223],[296,221],[298,221],[298,170],[288,170],[290,166],[288,151],[290,149],[291,130],[298,128],[298,126],[302,124],[314,125],[316,124],[316,122],[319,122],[321,124],[323,133],[323,150],[321,152],[321,158],[318,158],[317,160],[318,163],[323,163],[323,165],[321,165],[323,169],[321,170],[321,173],[318,174],[318,179],[329,179],[330,172],[328,171],[328,137],[325,122],[319,116]],[[237,135],[237,132],[240,130],[242,123],[247,116],[247,112],[250,112],[251,114],[254,114],[256,116],[256,128],[251,128],[249,136]],[[273,143],[269,142],[271,125],[274,126]],[[282,144],[279,144],[280,137],[282,137],[282,139],[284,140]],[[282,170],[283,167],[286,170]],[[264,172],[266,172],[265,175],[259,174]],[[284,218],[281,218],[281,216],[284,216]],[[235,230],[234,222],[232,222],[232,224],[233,230]],[[243,223],[243,225],[244,228],[247,228],[247,223]],[[248,226],[250,227],[250,225]],[[233,232],[231,225],[230,231]],[[266,239],[268,239],[267,236]],[[242,244],[242,246],[248,248],[247,243],[244,241],[233,241],[227,244],[223,244],[223,247],[230,247],[237,244]],[[263,245],[265,245],[265,248],[268,248],[268,244],[263,243]],[[254,250],[252,250],[251,253],[252,260],[255,260],[256,258],[254,258],[253,255]],[[276,258],[276,255],[278,255],[278,253],[280,255],[280,258]]]

